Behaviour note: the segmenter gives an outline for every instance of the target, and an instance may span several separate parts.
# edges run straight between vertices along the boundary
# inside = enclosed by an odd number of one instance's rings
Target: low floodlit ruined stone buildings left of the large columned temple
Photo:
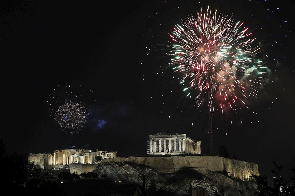
[[[42,169],[63,168],[71,164],[94,164],[95,157],[101,156],[102,159],[116,158],[118,151],[101,151],[85,149],[63,149],[55,150],[52,154],[29,154],[29,161],[40,165]]]

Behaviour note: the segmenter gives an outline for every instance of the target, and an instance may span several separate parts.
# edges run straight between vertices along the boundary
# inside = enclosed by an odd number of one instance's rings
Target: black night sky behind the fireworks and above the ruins
[[[227,146],[230,157],[257,163],[269,177],[275,161],[289,178],[295,166],[291,1],[1,1],[1,138],[7,152],[27,156],[76,146],[144,155],[148,134],[174,132],[202,141],[205,153],[208,116],[170,83],[165,65],[171,58],[163,45],[170,44],[176,22],[206,10],[206,3],[253,30],[272,71],[249,109],[213,118],[213,153]],[[176,93],[168,93],[171,88]],[[48,107],[73,97],[89,112],[76,135],[63,132]]]

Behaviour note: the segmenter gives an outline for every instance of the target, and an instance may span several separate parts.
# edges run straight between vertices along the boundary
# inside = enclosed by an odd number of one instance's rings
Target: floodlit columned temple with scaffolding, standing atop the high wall
[[[156,133],[147,137],[148,155],[201,154],[201,141],[183,133]]]

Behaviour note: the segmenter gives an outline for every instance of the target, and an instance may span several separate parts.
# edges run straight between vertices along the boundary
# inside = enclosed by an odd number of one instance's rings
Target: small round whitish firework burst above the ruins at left
[[[75,134],[84,127],[88,115],[82,103],[71,100],[57,107],[55,120],[63,131]]]

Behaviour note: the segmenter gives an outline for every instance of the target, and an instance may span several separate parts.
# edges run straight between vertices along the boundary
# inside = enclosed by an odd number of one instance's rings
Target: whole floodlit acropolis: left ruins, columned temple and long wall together
[[[191,169],[203,174],[208,171],[223,172],[240,180],[259,175],[257,164],[228,159],[214,155],[201,155],[201,141],[192,140],[182,133],[158,133],[147,137],[147,157],[117,157],[117,151],[84,149],[55,150],[53,154],[29,154],[29,161],[41,168],[70,167],[70,172],[80,175],[92,172],[101,162],[131,162],[149,166],[159,173],[171,173],[180,169]]]

